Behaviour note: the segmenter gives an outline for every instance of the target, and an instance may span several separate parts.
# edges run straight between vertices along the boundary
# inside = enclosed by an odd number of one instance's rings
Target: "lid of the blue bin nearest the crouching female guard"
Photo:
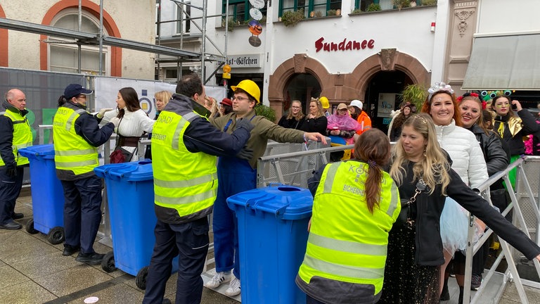
[[[229,208],[259,210],[282,220],[300,220],[311,216],[313,196],[308,189],[278,185],[253,189],[227,198]]]

